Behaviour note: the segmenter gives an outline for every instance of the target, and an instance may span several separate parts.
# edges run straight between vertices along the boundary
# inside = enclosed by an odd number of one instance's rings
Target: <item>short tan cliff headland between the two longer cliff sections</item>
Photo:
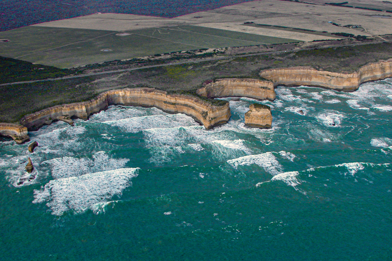
[[[196,92],[200,96],[209,98],[239,96],[273,101],[276,97],[273,82],[258,79],[217,79],[205,83]]]

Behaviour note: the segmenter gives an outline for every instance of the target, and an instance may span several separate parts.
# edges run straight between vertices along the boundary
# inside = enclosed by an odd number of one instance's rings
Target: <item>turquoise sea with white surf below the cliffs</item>
[[[209,131],[111,106],[2,142],[0,260],[391,260],[392,79],[276,92],[269,130],[227,98]]]

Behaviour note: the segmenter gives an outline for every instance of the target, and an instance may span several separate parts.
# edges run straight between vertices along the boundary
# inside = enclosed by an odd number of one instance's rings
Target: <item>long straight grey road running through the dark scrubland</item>
[[[340,45],[339,47],[356,46],[356,45],[367,45],[367,44],[375,44],[375,43],[380,43],[380,42],[354,43],[354,44],[350,44],[350,45]],[[0,84],[0,86],[13,85],[13,84],[23,84],[23,83],[37,83],[39,81],[59,81],[59,80],[66,80],[66,79],[79,78],[79,77],[88,77],[88,76],[94,76],[94,75],[100,75],[100,74],[111,74],[111,73],[116,73],[116,72],[126,72],[126,71],[133,71],[133,70],[140,70],[140,69],[147,69],[147,68],[154,68],[154,67],[178,65],[178,64],[184,64],[184,63],[198,63],[198,62],[202,62],[202,61],[214,61],[214,60],[231,59],[231,58],[237,58],[237,57],[246,57],[246,56],[263,55],[263,54],[277,54],[277,53],[281,53],[281,52],[299,52],[299,51],[305,51],[305,50],[314,50],[315,48],[317,48],[317,49],[325,49],[325,48],[331,48],[331,47],[333,47],[333,46],[326,46],[326,47],[319,47],[319,48],[312,47],[312,48],[305,48],[305,49],[299,49],[299,50],[288,50],[288,51],[259,52],[257,54],[241,54],[241,55],[236,55],[236,56],[226,56],[226,57],[219,57],[219,58],[200,59],[200,60],[196,60],[196,61],[183,61],[183,62],[179,62],[179,63],[166,63],[166,64],[160,64],[160,65],[150,65],[150,66],[137,67],[137,68],[128,68],[128,69],[112,70],[112,71],[105,71],[105,72],[94,72],[94,73],[91,73],[91,74],[81,74],[81,75],[65,76],[65,77],[52,78],[52,79],[42,79],[42,80],[32,80],[32,81],[18,81],[18,82],[15,82],[15,83],[2,83],[2,84]]]

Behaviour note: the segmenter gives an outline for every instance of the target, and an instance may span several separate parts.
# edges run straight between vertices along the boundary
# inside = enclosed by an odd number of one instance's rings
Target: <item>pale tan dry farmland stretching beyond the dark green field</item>
[[[245,27],[242,24],[244,22],[254,22],[316,31],[346,32],[366,36],[392,33],[392,13],[324,5],[324,1],[322,0],[309,0],[308,2],[317,3],[317,5],[279,0],[257,0],[209,11],[186,14],[171,19],[107,13],[40,23],[34,26],[131,31],[151,27],[200,25],[215,29],[290,38],[301,41],[334,38],[307,34],[306,32],[282,31],[274,28]],[[383,10],[388,8],[392,9],[392,4],[380,2],[379,0],[354,0],[350,1],[347,5],[377,7]],[[372,17],[374,15],[378,17]],[[380,17],[380,15],[383,15],[384,18],[382,16]],[[385,17],[388,18],[388,16],[391,18],[386,19]],[[328,22],[338,23],[340,25],[361,25],[368,33],[347,27],[338,27]]]

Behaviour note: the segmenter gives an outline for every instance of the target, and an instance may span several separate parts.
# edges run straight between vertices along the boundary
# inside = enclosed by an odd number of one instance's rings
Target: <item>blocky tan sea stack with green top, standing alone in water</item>
[[[271,128],[271,108],[259,103],[250,104],[249,111],[245,113],[245,126],[260,129]]]

